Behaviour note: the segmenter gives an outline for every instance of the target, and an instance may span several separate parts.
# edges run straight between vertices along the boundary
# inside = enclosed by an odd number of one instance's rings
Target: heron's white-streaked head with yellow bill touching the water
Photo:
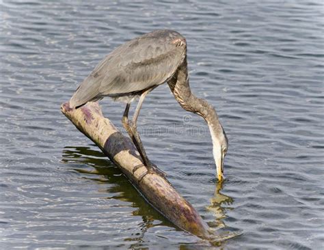
[[[208,124],[213,140],[213,156],[215,159],[218,180],[224,178],[224,158],[228,150],[228,139],[224,128],[217,120],[214,124]]]

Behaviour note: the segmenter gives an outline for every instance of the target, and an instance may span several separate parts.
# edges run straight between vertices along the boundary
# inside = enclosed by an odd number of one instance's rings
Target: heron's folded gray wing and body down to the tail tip
[[[185,38],[175,31],[153,31],[126,42],[94,68],[72,96],[77,107],[103,96],[140,92],[164,83],[185,57]]]

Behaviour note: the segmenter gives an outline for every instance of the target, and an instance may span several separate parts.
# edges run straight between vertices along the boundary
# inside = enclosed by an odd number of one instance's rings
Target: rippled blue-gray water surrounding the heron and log
[[[323,247],[321,4],[0,1],[1,248],[213,247],[155,212],[59,111],[109,51],[161,28],[187,38],[193,92],[221,117],[226,182],[206,124],[166,85],[144,102],[142,139],[211,227],[243,231],[214,247]],[[123,105],[101,104],[120,127]]]

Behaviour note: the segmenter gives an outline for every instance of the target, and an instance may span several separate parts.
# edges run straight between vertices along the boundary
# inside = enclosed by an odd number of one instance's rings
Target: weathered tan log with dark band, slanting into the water
[[[120,167],[137,191],[157,211],[181,229],[201,238],[209,238],[208,225],[166,178],[148,173],[139,182],[139,177],[146,172],[146,167],[141,167],[133,173],[134,167],[142,163],[135,145],[129,137],[122,135],[107,118],[103,117],[98,102],[88,102],[79,109],[71,109],[69,103],[65,102],[61,106],[61,111]]]

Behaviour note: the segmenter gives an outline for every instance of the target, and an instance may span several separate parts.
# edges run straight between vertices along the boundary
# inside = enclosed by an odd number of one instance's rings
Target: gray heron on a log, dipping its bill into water
[[[148,160],[137,132],[136,122],[146,95],[165,82],[183,109],[196,113],[206,120],[213,141],[217,176],[221,180],[228,139],[214,107],[191,93],[187,71],[187,43],[176,31],[152,31],[118,46],[100,61],[81,83],[70,100],[70,106],[78,108],[105,96],[124,100],[126,109],[122,124],[148,170],[146,173],[157,172],[164,175]],[[138,96],[139,102],[133,120],[130,121],[129,107]]]

